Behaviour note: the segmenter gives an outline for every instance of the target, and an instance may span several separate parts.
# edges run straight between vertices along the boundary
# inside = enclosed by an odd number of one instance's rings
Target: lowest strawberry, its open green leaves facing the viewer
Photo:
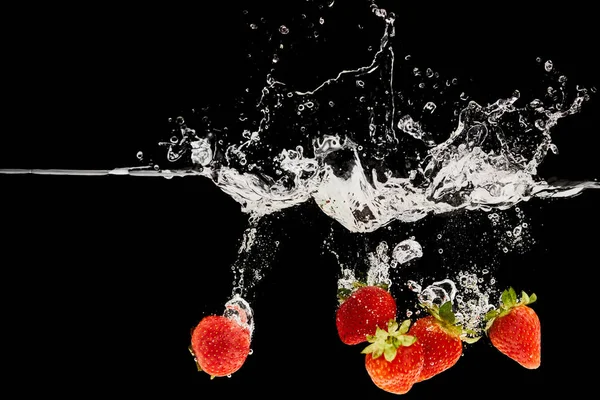
[[[407,393],[423,368],[423,348],[416,337],[406,335],[409,326],[410,320],[404,321],[400,328],[391,320],[387,331],[377,327],[375,335],[367,339],[371,344],[362,351],[366,354],[365,367],[371,380],[386,392]]]

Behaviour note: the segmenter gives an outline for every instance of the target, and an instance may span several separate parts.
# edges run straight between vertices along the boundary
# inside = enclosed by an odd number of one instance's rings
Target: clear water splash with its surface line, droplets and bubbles
[[[329,8],[333,5],[331,1]],[[557,66],[546,60],[540,68],[556,79],[537,97],[525,99],[515,91],[483,104],[463,92],[460,100],[470,101],[451,110],[458,117],[456,126],[440,131],[431,121],[447,105],[397,88],[398,65],[392,46],[396,16],[375,4],[371,11],[382,34],[369,63],[342,70],[312,88],[291,87],[277,80],[273,69],[266,74],[257,101],[252,102],[256,108],[244,110],[233,127],[199,128],[191,126],[187,116],[173,118],[170,137],[158,143],[164,165],[172,168],[148,164],[112,170],[4,169],[0,173],[209,179],[250,217],[232,266],[233,297],[225,314],[251,330],[253,314],[244,298],[272,259],[266,248],[276,248],[267,240],[268,227],[264,228],[268,215],[313,202],[348,232],[373,233],[394,221],[412,223],[458,210],[489,211],[490,222],[502,238],[498,246],[508,252],[526,247],[531,238],[527,222],[507,229],[498,211],[532,198],[567,198],[600,188],[598,182],[548,183],[537,176],[547,153],[558,153],[552,130],[582,110],[591,89],[572,89]],[[319,25],[327,25],[326,21],[319,19]],[[293,33],[290,26],[278,27],[282,40]],[[274,54],[273,64],[281,65],[281,57]],[[399,65],[409,60],[407,56]],[[420,93],[430,86],[441,90],[457,84],[431,68],[412,69],[411,75]],[[144,153],[136,157],[145,162]],[[439,252],[443,252],[441,247]],[[369,284],[391,285],[390,268],[417,262],[423,248],[414,238],[406,239],[389,253],[387,242],[381,241],[364,260],[357,260],[356,264],[367,264]],[[256,254],[263,255],[259,261],[252,258]],[[358,266],[340,262],[339,257],[338,263],[338,286],[352,289]],[[492,274],[484,271],[488,270],[460,271],[424,289],[425,283],[406,282],[424,303],[453,301],[459,321],[477,331],[496,290]]]

